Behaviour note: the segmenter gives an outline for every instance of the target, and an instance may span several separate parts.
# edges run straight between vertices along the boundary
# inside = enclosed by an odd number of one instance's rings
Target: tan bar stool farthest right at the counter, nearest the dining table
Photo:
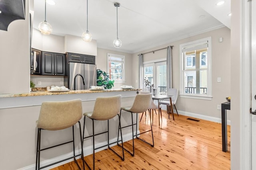
[[[133,102],[133,105],[132,106],[127,106],[127,107],[121,107],[121,110],[120,110],[120,117],[121,117],[121,111],[122,110],[125,110],[125,111],[128,111],[131,113],[132,115],[132,124],[131,125],[128,125],[128,126],[125,126],[125,127],[121,127],[120,125],[120,128],[118,129],[118,134],[119,134],[119,130],[121,131],[122,128],[126,128],[126,127],[130,127],[132,126],[132,147],[133,147],[133,153],[131,153],[128,149],[125,149],[128,153],[130,153],[132,156],[134,156],[134,137],[136,137],[137,139],[147,143],[148,145],[150,145],[151,147],[154,147],[154,137],[153,137],[153,131],[152,131],[152,123],[151,123],[151,113],[149,113],[150,115],[150,126],[151,126],[151,130],[148,130],[148,131],[145,131],[145,132],[142,132],[140,134],[137,134],[137,124],[138,124],[138,113],[143,113],[144,111],[147,111],[150,104],[152,102],[152,93],[149,93],[149,94],[137,94],[135,96],[135,99],[134,99],[134,102]],[[125,112],[124,112],[125,113]],[[127,113],[127,112],[126,112]],[[132,113],[136,113],[136,123],[133,124],[133,114]],[[133,134],[133,126],[136,125],[136,134],[134,135]],[[153,144],[150,144],[148,143],[147,141],[143,140],[143,139],[140,139],[138,137],[138,135],[141,135],[143,133],[146,133],[146,132],[149,132],[151,131],[152,132],[152,142]],[[122,136],[122,135],[121,135]],[[118,146],[120,146],[118,144]]]

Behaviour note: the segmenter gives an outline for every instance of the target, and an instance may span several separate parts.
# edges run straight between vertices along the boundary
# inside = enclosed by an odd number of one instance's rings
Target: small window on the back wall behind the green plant
[[[123,82],[124,79],[124,55],[108,53],[108,73],[111,80]]]

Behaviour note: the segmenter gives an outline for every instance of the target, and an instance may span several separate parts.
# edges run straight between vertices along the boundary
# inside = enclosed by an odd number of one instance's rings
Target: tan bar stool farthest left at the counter
[[[37,144],[36,144],[36,170],[46,168],[48,166],[52,166],[54,164],[58,164],[60,162],[63,162],[65,160],[69,160],[74,158],[74,161],[76,162],[79,169],[80,166],[78,165],[78,162],[76,161],[77,156],[84,157],[83,149],[82,149],[82,133],[81,133],[81,125],[80,125],[80,119],[82,118],[82,102],[80,99],[77,100],[70,100],[70,101],[64,101],[64,102],[43,102],[39,118],[36,121],[36,126],[38,127],[38,134],[37,134]],[[80,129],[80,142],[81,142],[81,153],[75,155],[75,145],[74,145],[74,125],[76,123],[79,123],[79,129]],[[61,129],[66,129],[68,127],[72,127],[73,130],[73,140],[65,143],[61,143],[59,145],[54,145],[52,147],[48,147],[45,149],[41,149],[41,131],[42,130],[49,130],[49,131],[57,131]],[[40,168],[40,152],[42,150],[51,149],[53,147],[58,147],[67,143],[73,143],[73,151],[74,156],[70,158],[66,158],[64,160],[60,160],[58,162],[43,166]],[[83,163],[83,169],[84,169],[84,163]]]

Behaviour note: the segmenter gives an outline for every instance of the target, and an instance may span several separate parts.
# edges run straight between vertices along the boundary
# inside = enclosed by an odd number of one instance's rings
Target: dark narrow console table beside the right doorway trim
[[[222,151],[228,151],[227,137],[227,110],[230,110],[230,102],[221,104],[221,129],[222,129]]]

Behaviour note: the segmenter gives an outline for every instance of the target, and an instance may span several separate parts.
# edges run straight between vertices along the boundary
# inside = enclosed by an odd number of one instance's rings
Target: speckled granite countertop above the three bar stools
[[[8,97],[26,97],[26,96],[47,96],[47,95],[60,95],[60,94],[84,94],[84,93],[105,93],[105,92],[125,92],[125,91],[139,91],[141,89],[111,89],[111,90],[69,90],[68,92],[50,92],[50,91],[32,91],[30,93],[20,94],[0,94],[0,98]]]

